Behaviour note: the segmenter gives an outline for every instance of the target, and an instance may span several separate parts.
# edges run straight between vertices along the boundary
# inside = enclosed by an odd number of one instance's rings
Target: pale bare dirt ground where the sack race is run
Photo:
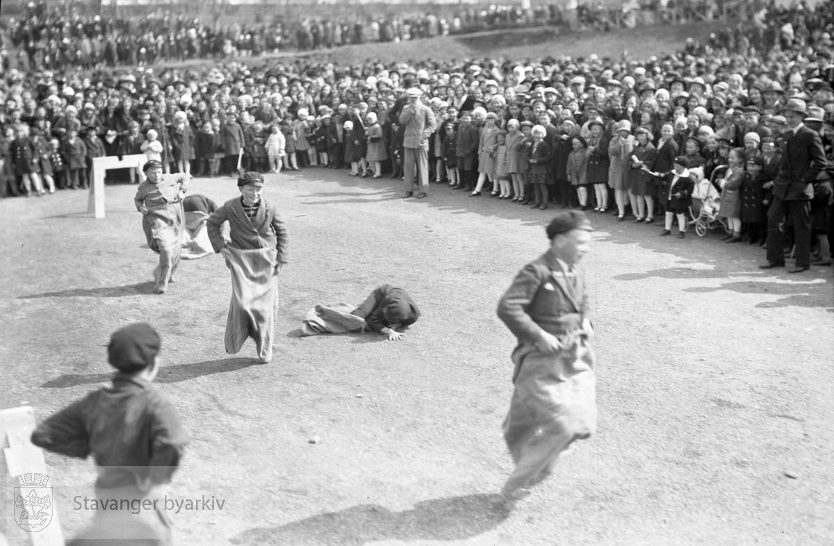
[[[221,258],[183,263],[168,294],[150,293],[134,187],[107,188],[103,220],[82,192],[0,202],[3,407],[45,418],[97,388],[109,333],[145,320],[163,335],[159,388],[193,436],[173,493],[226,500],[174,516],[183,544],[834,542],[830,268],[764,273],[759,248],[595,215],[600,431],[506,513],[494,493],[511,468],[514,340],[495,303],[544,250],[549,213],[392,186],[269,175],[290,263],[268,365],[249,344],[224,353]],[[229,178],[193,188],[237,191]],[[384,282],[424,312],[403,341],[296,337],[314,303],[358,303]],[[90,518],[71,499],[91,492],[92,463],[47,460],[72,533]]]

